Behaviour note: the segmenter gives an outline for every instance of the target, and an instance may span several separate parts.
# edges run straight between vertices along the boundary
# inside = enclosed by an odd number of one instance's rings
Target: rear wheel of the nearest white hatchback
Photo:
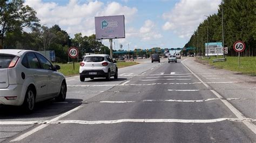
[[[23,102],[23,108],[26,113],[32,113],[35,108],[35,92],[32,88],[26,91],[25,99]]]

